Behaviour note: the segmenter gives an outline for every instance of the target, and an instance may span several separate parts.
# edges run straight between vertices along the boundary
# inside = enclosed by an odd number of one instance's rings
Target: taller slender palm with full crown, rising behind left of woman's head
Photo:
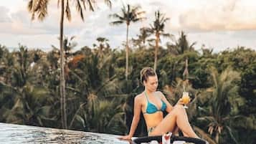
[[[138,22],[142,21],[143,19],[146,19],[146,17],[143,17],[143,14],[145,14],[145,11],[139,11],[141,9],[141,6],[135,6],[131,7],[130,4],[127,4],[127,9],[125,6],[123,6],[122,14],[110,14],[110,17],[113,17],[114,19],[117,19],[116,21],[110,22],[110,24],[113,25],[119,25],[119,24],[126,24],[126,67],[125,67],[125,80],[128,80],[128,32],[129,32],[129,26],[131,22]]]

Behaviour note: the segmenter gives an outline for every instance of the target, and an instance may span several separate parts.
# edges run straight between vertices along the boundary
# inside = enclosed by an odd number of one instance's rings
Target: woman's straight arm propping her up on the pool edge
[[[129,140],[133,137],[135,130],[138,126],[138,121],[140,120],[141,116],[141,102],[138,99],[139,97],[135,97],[134,99],[134,107],[133,107],[133,121],[131,123],[130,132],[128,135],[120,137],[120,139]]]

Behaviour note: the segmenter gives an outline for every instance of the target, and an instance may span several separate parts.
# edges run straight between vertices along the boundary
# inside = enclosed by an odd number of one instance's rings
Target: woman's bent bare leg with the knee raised
[[[189,124],[186,110],[182,105],[175,105],[174,109],[163,118],[161,123],[151,132],[151,135],[163,135],[166,132],[172,132],[176,125],[183,133],[191,138],[199,138]]]

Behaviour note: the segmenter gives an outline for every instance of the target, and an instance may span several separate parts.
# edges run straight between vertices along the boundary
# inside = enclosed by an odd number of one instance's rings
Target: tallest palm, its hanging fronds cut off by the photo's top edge
[[[66,16],[68,21],[71,21],[70,13],[70,1],[71,0],[58,0],[58,5],[60,4],[61,14],[60,14],[60,100],[61,100],[61,115],[62,115],[62,127],[67,128],[67,116],[66,116],[66,92],[65,92],[65,56],[64,56],[64,46],[63,46],[63,26],[64,26],[64,16]],[[94,11],[93,4],[96,1],[92,0],[76,0],[75,5],[78,13],[80,13],[81,19],[84,20],[84,11],[89,7],[90,11]],[[111,6],[110,0],[105,0],[108,6]],[[32,20],[37,15],[39,21],[44,20],[47,16],[47,6],[49,0],[29,0],[28,10],[32,13]],[[64,14],[65,13],[65,14]]]

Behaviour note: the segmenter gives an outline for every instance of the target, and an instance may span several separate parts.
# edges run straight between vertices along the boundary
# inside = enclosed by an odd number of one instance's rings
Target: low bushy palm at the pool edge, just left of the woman
[[[119,133],[126,130],[123,105],[117,100],[98,100],[96,95],[88,97],[88,103],[75,115],[76,123],[87,131],[98,133]]]

